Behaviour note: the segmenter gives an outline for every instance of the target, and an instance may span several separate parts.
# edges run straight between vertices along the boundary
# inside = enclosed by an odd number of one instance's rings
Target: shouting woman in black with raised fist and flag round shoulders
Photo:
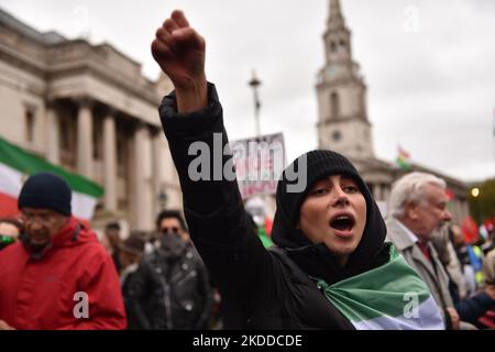
[[[366,184],[338,153],[309,152],[283,173],[276,246],[266,250],[253,235],[235,177],[189,177],[190,143],[210,151],[218,135],[228,143],[216,88],[206,79],[205,40],[176,10],[157,30],[152,53],[175,86],[160,114],[189,232],[219,287],[226,329],[444,328],[426,284],[384,242],[385,223]],[[231,158],[220,156],[223,170]],[[208,169],[218,169],[216,160],[209,156]]]

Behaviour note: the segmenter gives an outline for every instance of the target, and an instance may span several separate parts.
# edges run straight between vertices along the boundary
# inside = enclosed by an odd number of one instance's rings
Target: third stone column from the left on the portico
[[[134,209],[134,229],[135,230],[145,230],[146,228],[146,217],[150,215],[144,213],[145,207],[145,170],[144,170],[144,153],[145,150],[145,141],[148,138],[148,130],[145,124],[140,123],[136,125],[134,131],[134,205],[131,209]]]

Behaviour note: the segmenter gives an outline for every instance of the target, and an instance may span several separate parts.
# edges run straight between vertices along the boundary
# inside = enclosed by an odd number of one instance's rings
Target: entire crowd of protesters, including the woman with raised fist
[[[0,330],[495,328],[495,231],[466,243],[442,179],[399,178],[385,216],[348,158],[312,151],[282,174],[260,232],[235,179],[188,176],[187,143],[228,143],[205,40],[174,11],[152,52],[175,87],[160,117],[185,217],[164,210],[125,235],[110,222],[98,239],[63,178],[32,175],[19,219],[0,219]],[[307,179],[293,191],[296,168]]]

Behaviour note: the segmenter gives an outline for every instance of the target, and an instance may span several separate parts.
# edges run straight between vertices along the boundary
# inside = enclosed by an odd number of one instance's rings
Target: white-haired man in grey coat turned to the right
[[[430,241],[451,220],[446,182],[430,174],[411,173],[392,188],[386,220],[387,238],[422,277],[443,309],[447,327],[459,329],[460,319],[449,293],[449,277]]]

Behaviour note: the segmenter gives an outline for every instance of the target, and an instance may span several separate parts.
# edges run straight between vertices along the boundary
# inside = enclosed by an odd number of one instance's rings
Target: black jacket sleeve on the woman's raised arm
[[[228,136],[222,107],[211,84],[208,100],[208,107],[200,111],[177,113],[176,97],[172,94],[160,107],[160,116],[179,176],[191,239],[222,299],[228,297],[229,305],[246,309],[237,312],[244,316],[252,308],[253,297],[262,294],[262,287],[267,287],[263,283],[270,282],[271,258],[250,229],[237,180],[226,179],[222,173],[232,155],[224,153]],[[198,164],[199,154],[189,155],[189,148],[201,147],[209,151],[208,155],[202,155],[209,173],[207,179],[194,180],[189,166]],[[197,170],[197,167],[191,169]],[[263,295],[266,297],[268,293]]]

